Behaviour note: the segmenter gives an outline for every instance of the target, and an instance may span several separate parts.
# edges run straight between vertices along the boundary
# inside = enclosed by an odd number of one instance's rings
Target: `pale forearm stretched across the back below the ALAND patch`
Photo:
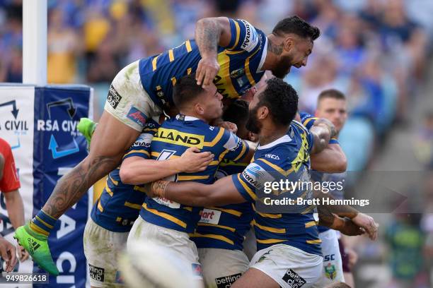
[[[140,160],[120,167],[120,179],[124,184],[139,185],[173,176],[182,172],[178,159]]]

